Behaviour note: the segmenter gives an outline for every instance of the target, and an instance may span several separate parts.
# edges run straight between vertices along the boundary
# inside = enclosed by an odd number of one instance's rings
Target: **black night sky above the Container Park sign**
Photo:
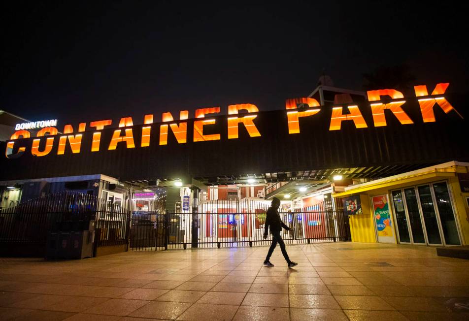
[[[254,103],[283,109],[323,71],[362,90],[362,74],[407,64],[415,84],[468,93],[460,2],[9,1],[1,7],[0,109],[36,121],[118,119]],[[99,3],[95,3],[99,2]],[[375,2],[372,2],[375,3]],[[433,87],[432,87],[433,88]]]

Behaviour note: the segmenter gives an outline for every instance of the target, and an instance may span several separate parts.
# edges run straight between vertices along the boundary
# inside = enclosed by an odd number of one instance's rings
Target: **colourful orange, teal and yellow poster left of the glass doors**
[[[388,196],[377,195],[371,197],[373,204],[374,222],[378,242],[394,243],[394,233],[392,227],[391,212],[389,210]]]

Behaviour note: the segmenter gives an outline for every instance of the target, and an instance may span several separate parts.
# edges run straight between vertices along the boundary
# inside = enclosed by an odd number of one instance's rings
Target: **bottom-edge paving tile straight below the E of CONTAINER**
[[[177,320],[225,321],[234,317],[238,307],[235,305],[196,303],[186,310]]]

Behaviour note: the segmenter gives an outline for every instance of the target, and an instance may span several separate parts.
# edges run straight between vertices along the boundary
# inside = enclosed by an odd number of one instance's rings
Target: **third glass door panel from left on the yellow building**
[[[430,185],[417,187],[425,231],[429,244],[442,244]]]

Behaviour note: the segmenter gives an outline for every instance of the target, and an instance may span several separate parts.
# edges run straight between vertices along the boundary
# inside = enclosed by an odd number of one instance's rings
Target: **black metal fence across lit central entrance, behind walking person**
[[[290,230],[282,229],[287,244],[336,242],[346,239],[342,213],[336,211],[303,211],[279,213]],[[266,213],[169,213],[168,249],[192,247],[239,247],[268,245],[264,239]],[[197,245],[192,231],[197,233]]]

